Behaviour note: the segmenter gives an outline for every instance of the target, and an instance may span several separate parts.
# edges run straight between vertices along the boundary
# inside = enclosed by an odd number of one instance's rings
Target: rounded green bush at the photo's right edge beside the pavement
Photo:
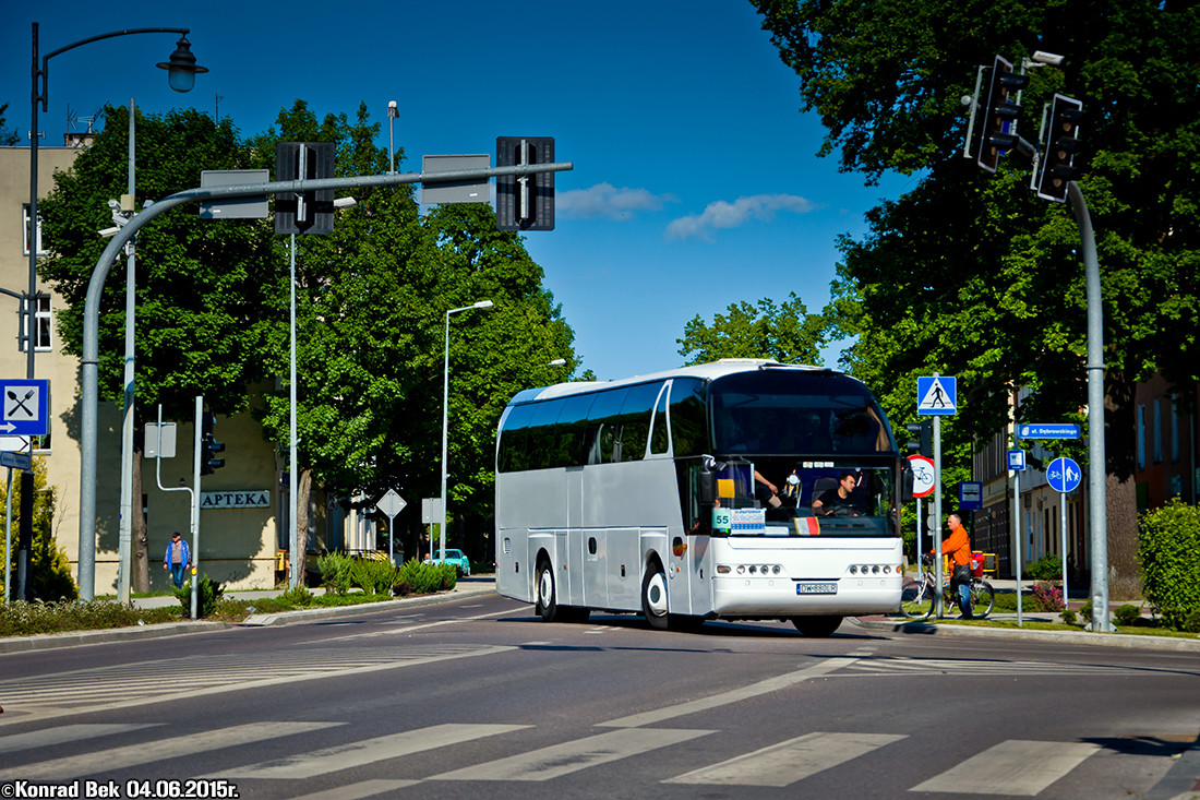
[[[1183,631],[1200,609],[1200,508],[1178,498],[1141,515],[1138,561],[1146,599],[1163,615],[1163,625]]]

